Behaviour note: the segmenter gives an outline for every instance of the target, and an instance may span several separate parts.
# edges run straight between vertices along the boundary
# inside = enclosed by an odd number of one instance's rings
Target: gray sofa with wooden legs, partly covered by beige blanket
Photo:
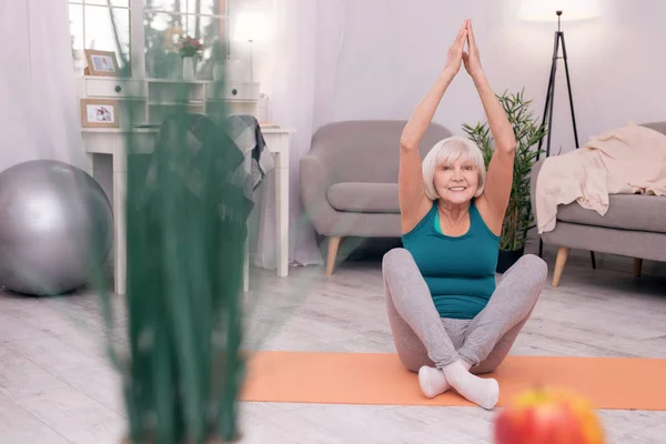
[[[644,123],[666,134],[666,122]],[[532,170],[532,204],[538,172],[545,159]],[[666,261],[666,196],[612,194],[604,216],[573,202],[557,209],[553,231],[541,235],[544,244],[557,245],[553,286],[559,284],[571,249],[634,258],[634,274],[640,275],[643,260]]]

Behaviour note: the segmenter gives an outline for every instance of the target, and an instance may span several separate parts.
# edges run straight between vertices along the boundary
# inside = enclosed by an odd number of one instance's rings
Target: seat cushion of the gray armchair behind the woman
[[[337,211],[400,213],[397,183],[335,183],[326,191],[326,199]]]

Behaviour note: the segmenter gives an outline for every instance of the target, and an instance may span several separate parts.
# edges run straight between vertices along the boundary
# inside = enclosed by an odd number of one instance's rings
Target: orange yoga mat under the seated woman
[[[514,356],[492,374],[500,402],[537,386],[564,387],[596,408],[666,410],[666,360]],[[249,362],[242,401],[374,404],[473,405],[455,391],[428,400],[417,375],[384,353],[256,352]]]

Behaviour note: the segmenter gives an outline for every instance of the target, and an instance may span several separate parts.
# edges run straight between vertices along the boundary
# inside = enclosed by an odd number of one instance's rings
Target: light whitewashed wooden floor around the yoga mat
[[[252,346],[394,352],[377,261],[345,263],[332,276],[323,268],[290,273],[279,279],[253,271],[246,295]],[[112,332],[120,343],[123,320]],[[0,293],[0,443],[119,443],[123,408],[102,340],[93,294],[39,300]],[[666,357],[666,278],[636,280],[630,266],[617,272],[567,264],[561,286],[546,286],[512,353]],[[495,413],[243,404],[242,443],[491,443]],[[599,415],[609,443],[666,442],[666,412]]]

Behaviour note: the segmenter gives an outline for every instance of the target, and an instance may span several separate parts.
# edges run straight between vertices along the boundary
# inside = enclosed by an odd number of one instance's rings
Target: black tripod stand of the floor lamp
[[[546,104],[544,107],[544,117],[542,120],[542,127],[546,123],[546,119],[548,120],[548,132],[546,134],[546,158],[551,155],[551,129],[553,128],[553,102],[555,102],[555,79],[557,73],[557,60],[559,59],[559,46],[562,44],[562,59],[564,59],[564,71],[566,73],[566,87],[568,90],[569,97],[569,107],[572,110],[572,123],[574,127],[574,140],[576,142],[576,149],[578,149],[578,131],[576,130],[576,114],[574,112],[574,98],[572,95],[572,81],[569,79],[568,73],[568,61],[566,57],[566,44],[564,43],[564,32],[562,31],[562,11],[556,11],[557,14],[557,31],[555,31],[555,41],[553,44],[553,62],[551,64],[551,77],[548,79],[548,90],[546,92]],[[544,139],[541,138],[538,141],[538,151],[536,153],[536,160],[541,157],[541,148]],[[544,252],[544,242],[538,240],[538,255],[539,258]],[[596,260],[594,258],[594,251],[589,252],[592,258],[592,268],[596,269]]]

